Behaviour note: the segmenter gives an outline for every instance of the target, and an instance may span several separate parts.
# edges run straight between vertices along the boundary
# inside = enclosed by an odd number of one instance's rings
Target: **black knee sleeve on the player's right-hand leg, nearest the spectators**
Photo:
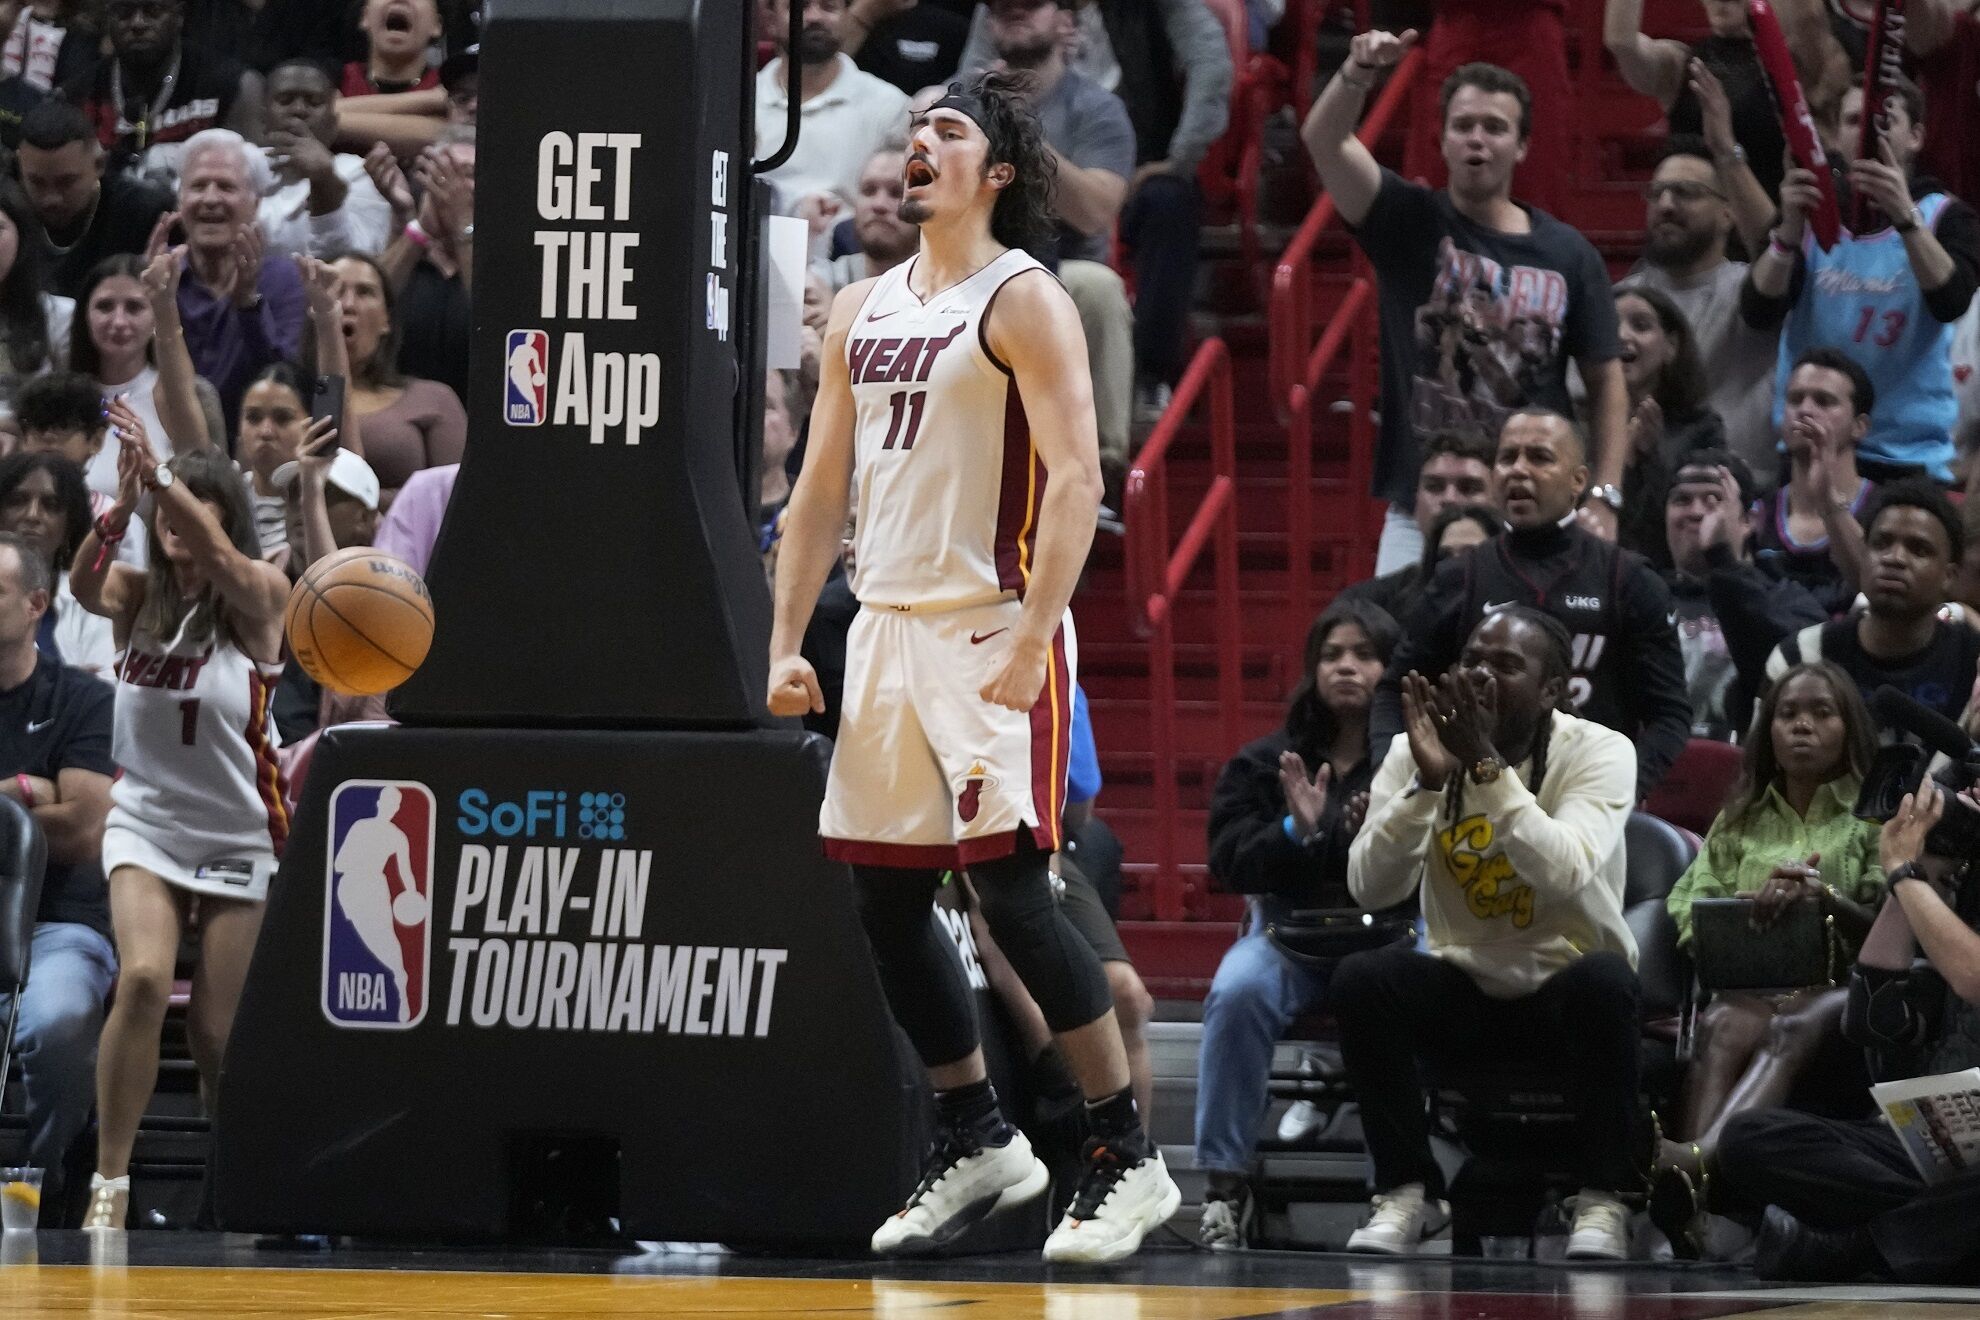
[[[1059,912],[1047,875],[1049,861],[1047,853],[1026,839],[1014,857],[970,867],[970,881],[990,938],[1038,999],[1045,1025],[1053,1031],[1077,1031],[1113,1007],[1113,993],[1099,954]]]

